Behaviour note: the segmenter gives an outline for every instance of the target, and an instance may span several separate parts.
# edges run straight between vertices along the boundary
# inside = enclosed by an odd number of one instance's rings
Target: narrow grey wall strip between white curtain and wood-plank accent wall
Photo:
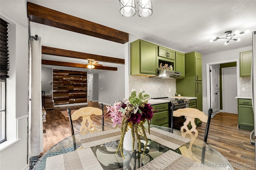
[[[52,80],[52,68],[42,67],[42,90],[49,94],[52,90],[52,85],[49,82]]]

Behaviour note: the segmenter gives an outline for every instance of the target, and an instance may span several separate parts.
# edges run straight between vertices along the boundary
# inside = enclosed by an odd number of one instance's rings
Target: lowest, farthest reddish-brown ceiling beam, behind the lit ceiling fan
[[[52,65],[52,66],[68,66],[68,67],[78,67],[78,68],[87,68],[88,64],[78,64],[78,63],[67,63],[61,61],[51,61],[51,60],[42,60],[42,64]],[[96,66],[93,69],[97,70],[111,70],[116,71],[116,67],[107,67],[107,66]]]

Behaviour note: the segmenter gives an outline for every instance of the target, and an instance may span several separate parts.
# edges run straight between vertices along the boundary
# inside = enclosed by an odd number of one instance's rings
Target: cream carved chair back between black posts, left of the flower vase
[[[97,107],[82,107],[75,111],[71,115],[71,109],[68,108],[68,118],[70,121],[70,127],[71,127],[71,133],[74,135],[74,128],[72,121],[77,120],[79,117],[83,118],[83,121],[81,123],[80,132],[88,129],[95,128],[95,125],[93,124],[93,121],[91,119],[91,115],[101,115],[102,116],[102,129],[104,128],[104,118],[103,118],[103,104],[101,104],[101,109]],[[86,126],[86,123],[89,123],[88,126]]]

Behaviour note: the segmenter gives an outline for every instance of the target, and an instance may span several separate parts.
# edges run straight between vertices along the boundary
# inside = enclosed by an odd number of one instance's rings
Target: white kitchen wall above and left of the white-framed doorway
[[[252,46],[249,47],[243,47],[239,49],[234,50],[228,50],[228,51],[222,51],[219,53],[213,53],[208,55],[202,55],[202,78],[203,78],[203,97],[207,97],[206,94],[206,64],[207,63],[215,63],[215,62],[222,62],[239,59],[239,53],[242,51],[249,51],[252,50]],[[239,65],[238,65],[239,66]],[[203,105],[206,105],[203,103]]]

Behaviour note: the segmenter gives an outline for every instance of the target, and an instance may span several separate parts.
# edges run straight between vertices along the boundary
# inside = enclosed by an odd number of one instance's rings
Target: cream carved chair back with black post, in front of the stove
[[[208,131],[210,127],[210,120],[212,116],[212,109],[209,109],[208,116],[204,114],[204,112],[194,109],[194,108],[183,108],[177,109],[173,111],[173,116],[181,117],[186,116],[186,121],[184,122],[183,126],[180,128],[180,131],[183,132],[184,136],[191,135],[192,137],[198,137],[198,131],[196,130],[195,119],[198,118],[202,122],[206,123],[206,131],[204,135],[204,142],[207,141]],[[189,129],[188,125],[191,124],[192,128]]]

